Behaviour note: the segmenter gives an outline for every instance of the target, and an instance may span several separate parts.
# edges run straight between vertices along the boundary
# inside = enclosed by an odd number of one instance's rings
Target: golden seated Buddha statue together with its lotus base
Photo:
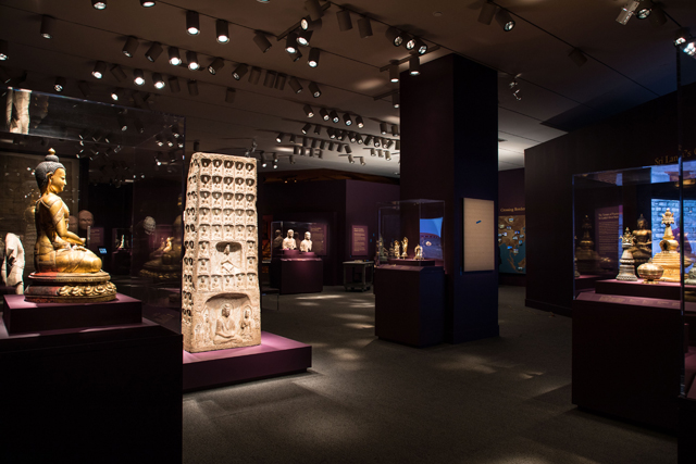
[[[67,230],[70,210],[59,193],[66,186],[65,166],[55,151],[35,170],[41,196],[36,202],[37,240],[34,248],[35,272],[25,296],[36,302],[110,301],[116,287],[101,271],[101,259],[84,247],[85,239]]]

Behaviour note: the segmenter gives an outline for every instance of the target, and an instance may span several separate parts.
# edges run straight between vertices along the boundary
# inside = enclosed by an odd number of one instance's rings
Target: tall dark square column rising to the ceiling
[[[420,76],[402,73],[400,92],[401,200],[445,201],[445,340],[495,337],[498,271],[463,272],[462,199],[494,200],[497,211],[496,72],[450,54]]]

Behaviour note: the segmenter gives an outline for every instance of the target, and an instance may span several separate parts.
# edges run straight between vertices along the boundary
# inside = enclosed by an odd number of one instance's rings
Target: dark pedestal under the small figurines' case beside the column
[[[412,347],[443,342],[445,271],[383,265],[375,269],[374,333]]]

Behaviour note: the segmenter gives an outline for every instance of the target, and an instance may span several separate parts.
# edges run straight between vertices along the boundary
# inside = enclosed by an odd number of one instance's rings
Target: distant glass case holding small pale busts
[[[271,223],[273,239],[271,255],[276,258],[283,250],[297,250],[300,253],[312,252],[325,256],[328,249],[326,224],[275,221]]]

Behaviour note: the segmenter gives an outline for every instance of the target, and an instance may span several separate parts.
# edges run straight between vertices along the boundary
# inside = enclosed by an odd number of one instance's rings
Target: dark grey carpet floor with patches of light
[[[676,462],[672,436],[571,404],[571,319],[499,291],[500,337],[414,349],[374,337],[374,296],[263,303],[310,371],[184,396],[185,463]]]

